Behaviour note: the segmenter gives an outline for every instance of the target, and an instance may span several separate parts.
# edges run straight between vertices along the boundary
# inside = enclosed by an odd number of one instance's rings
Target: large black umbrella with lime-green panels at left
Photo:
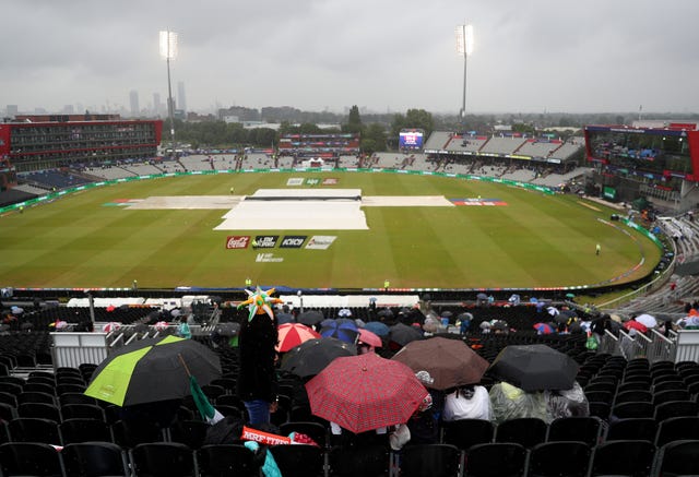
[[[173,335],[141,339],[105,358],[85,395],[117,406],[182,398],[190,394],[187,369],[201,385],[221,377],[218,356],[201,343]]]

